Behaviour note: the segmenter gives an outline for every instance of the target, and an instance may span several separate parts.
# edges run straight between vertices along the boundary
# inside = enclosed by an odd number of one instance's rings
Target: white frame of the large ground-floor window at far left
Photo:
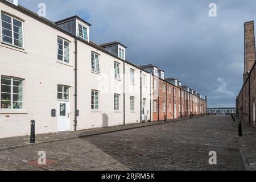
[[[7,78],[7,79],[11,79],[11,85],[6,85],[6,86],[11,86],[11,93],[7,93],[7,92],[2,92],[2,85],[5,85],[5,84],[2,84],[2,78]],[[1,110],[23,110],[24,109],[24,79],[22,78],[15,78],[15,77],[9,77],[9,76],[2,76],[1,77],[1,84],[0,84],[0,104],[2,105],[2,102],[5,102],[4,100],[1,100],[2,96],[1,94],[2,93],[6,93],[6,94],[11,94],[11,100],[9,102],[11,102],[11,108],[1,108],[2,106],[0,106],[0,109]],[[13,81],[14,80],[18,80],[18,81],[22,81],[22,101],[14,101],[13,100],[13,88],[14,88],[14,85],[13,85]],[[15,86],[15,87],[20,87],[20,86]],[[20,94],[19,94],[20,95]],[[15,109],[13,108],[13,102],[22,102],[22,109]]]

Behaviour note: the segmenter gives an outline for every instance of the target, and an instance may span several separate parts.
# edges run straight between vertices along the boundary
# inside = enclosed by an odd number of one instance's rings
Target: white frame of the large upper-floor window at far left
[[[0,11],[1,12],[1,11]],[[3,42],[3,25],[2,25],[2,14],[5,15],[5,16],[9,16],[11,18],[11,34],[12,34],[12,43],[7,43],[7,42]],[[13,30],[13,20],[17,20],[19,22],[22,23],[22,47],[20,46],[16,46],[14,44],[14,30]],[[17,19],[17,18],[14,18],[12,15],[9,15],[9,14],[6,14],[6,13],[0,13],[0,28],[1,28],[1,43],[3,44],[7,44],[7,45],[10,45],[10,46],[14,46],[14,47],[17,47],[17,48],[20,48],[20,49],[24,49],[24,21],[23,20],[20,20],[20,19]]]

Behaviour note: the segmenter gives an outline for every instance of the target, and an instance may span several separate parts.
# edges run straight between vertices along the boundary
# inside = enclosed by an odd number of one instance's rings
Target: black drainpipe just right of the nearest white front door
[[[75,131],[77,129],[77,39],[75,39],[75,120],[74,120],[74,127]]]

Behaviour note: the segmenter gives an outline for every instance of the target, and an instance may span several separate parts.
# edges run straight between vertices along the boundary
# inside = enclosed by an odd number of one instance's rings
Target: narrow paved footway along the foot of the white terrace
[[[193,118],[199,118],[199,117],[193,117]],[[204,115],[203,117],[207,117],[207,115]],[[93,135],[113,133],[113,132],[123,131],[123,130],[138,129],[138,128],[147,127],[147,126],[162,125],[165,123],[184,121],[188,119],[191,119],[191,118],[172,119],[166,122],[156,121],[156,122],[146,122],[146,123],[132,123],[128,125],[101,127],[96,129],[86,129],[86,130],[79,130],[79,131],[65,131],[61,133],[38,134],[35,137],[36,143],[28,143],[30,141],[30,136],[3,138],[3,139],[0,139],[0,151],[9,150],[13,148],[35,146],[38,144],[52,143],[52,142],[74,139],[74,138],[82,138],[82,137],[89,137]]]

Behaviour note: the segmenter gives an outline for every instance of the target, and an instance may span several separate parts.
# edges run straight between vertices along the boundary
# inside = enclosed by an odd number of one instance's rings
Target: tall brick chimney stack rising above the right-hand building
[[[255,60],[254,22],[250,21],[245,22],[245,70],[243,73],[243,82],[247,80]]]

